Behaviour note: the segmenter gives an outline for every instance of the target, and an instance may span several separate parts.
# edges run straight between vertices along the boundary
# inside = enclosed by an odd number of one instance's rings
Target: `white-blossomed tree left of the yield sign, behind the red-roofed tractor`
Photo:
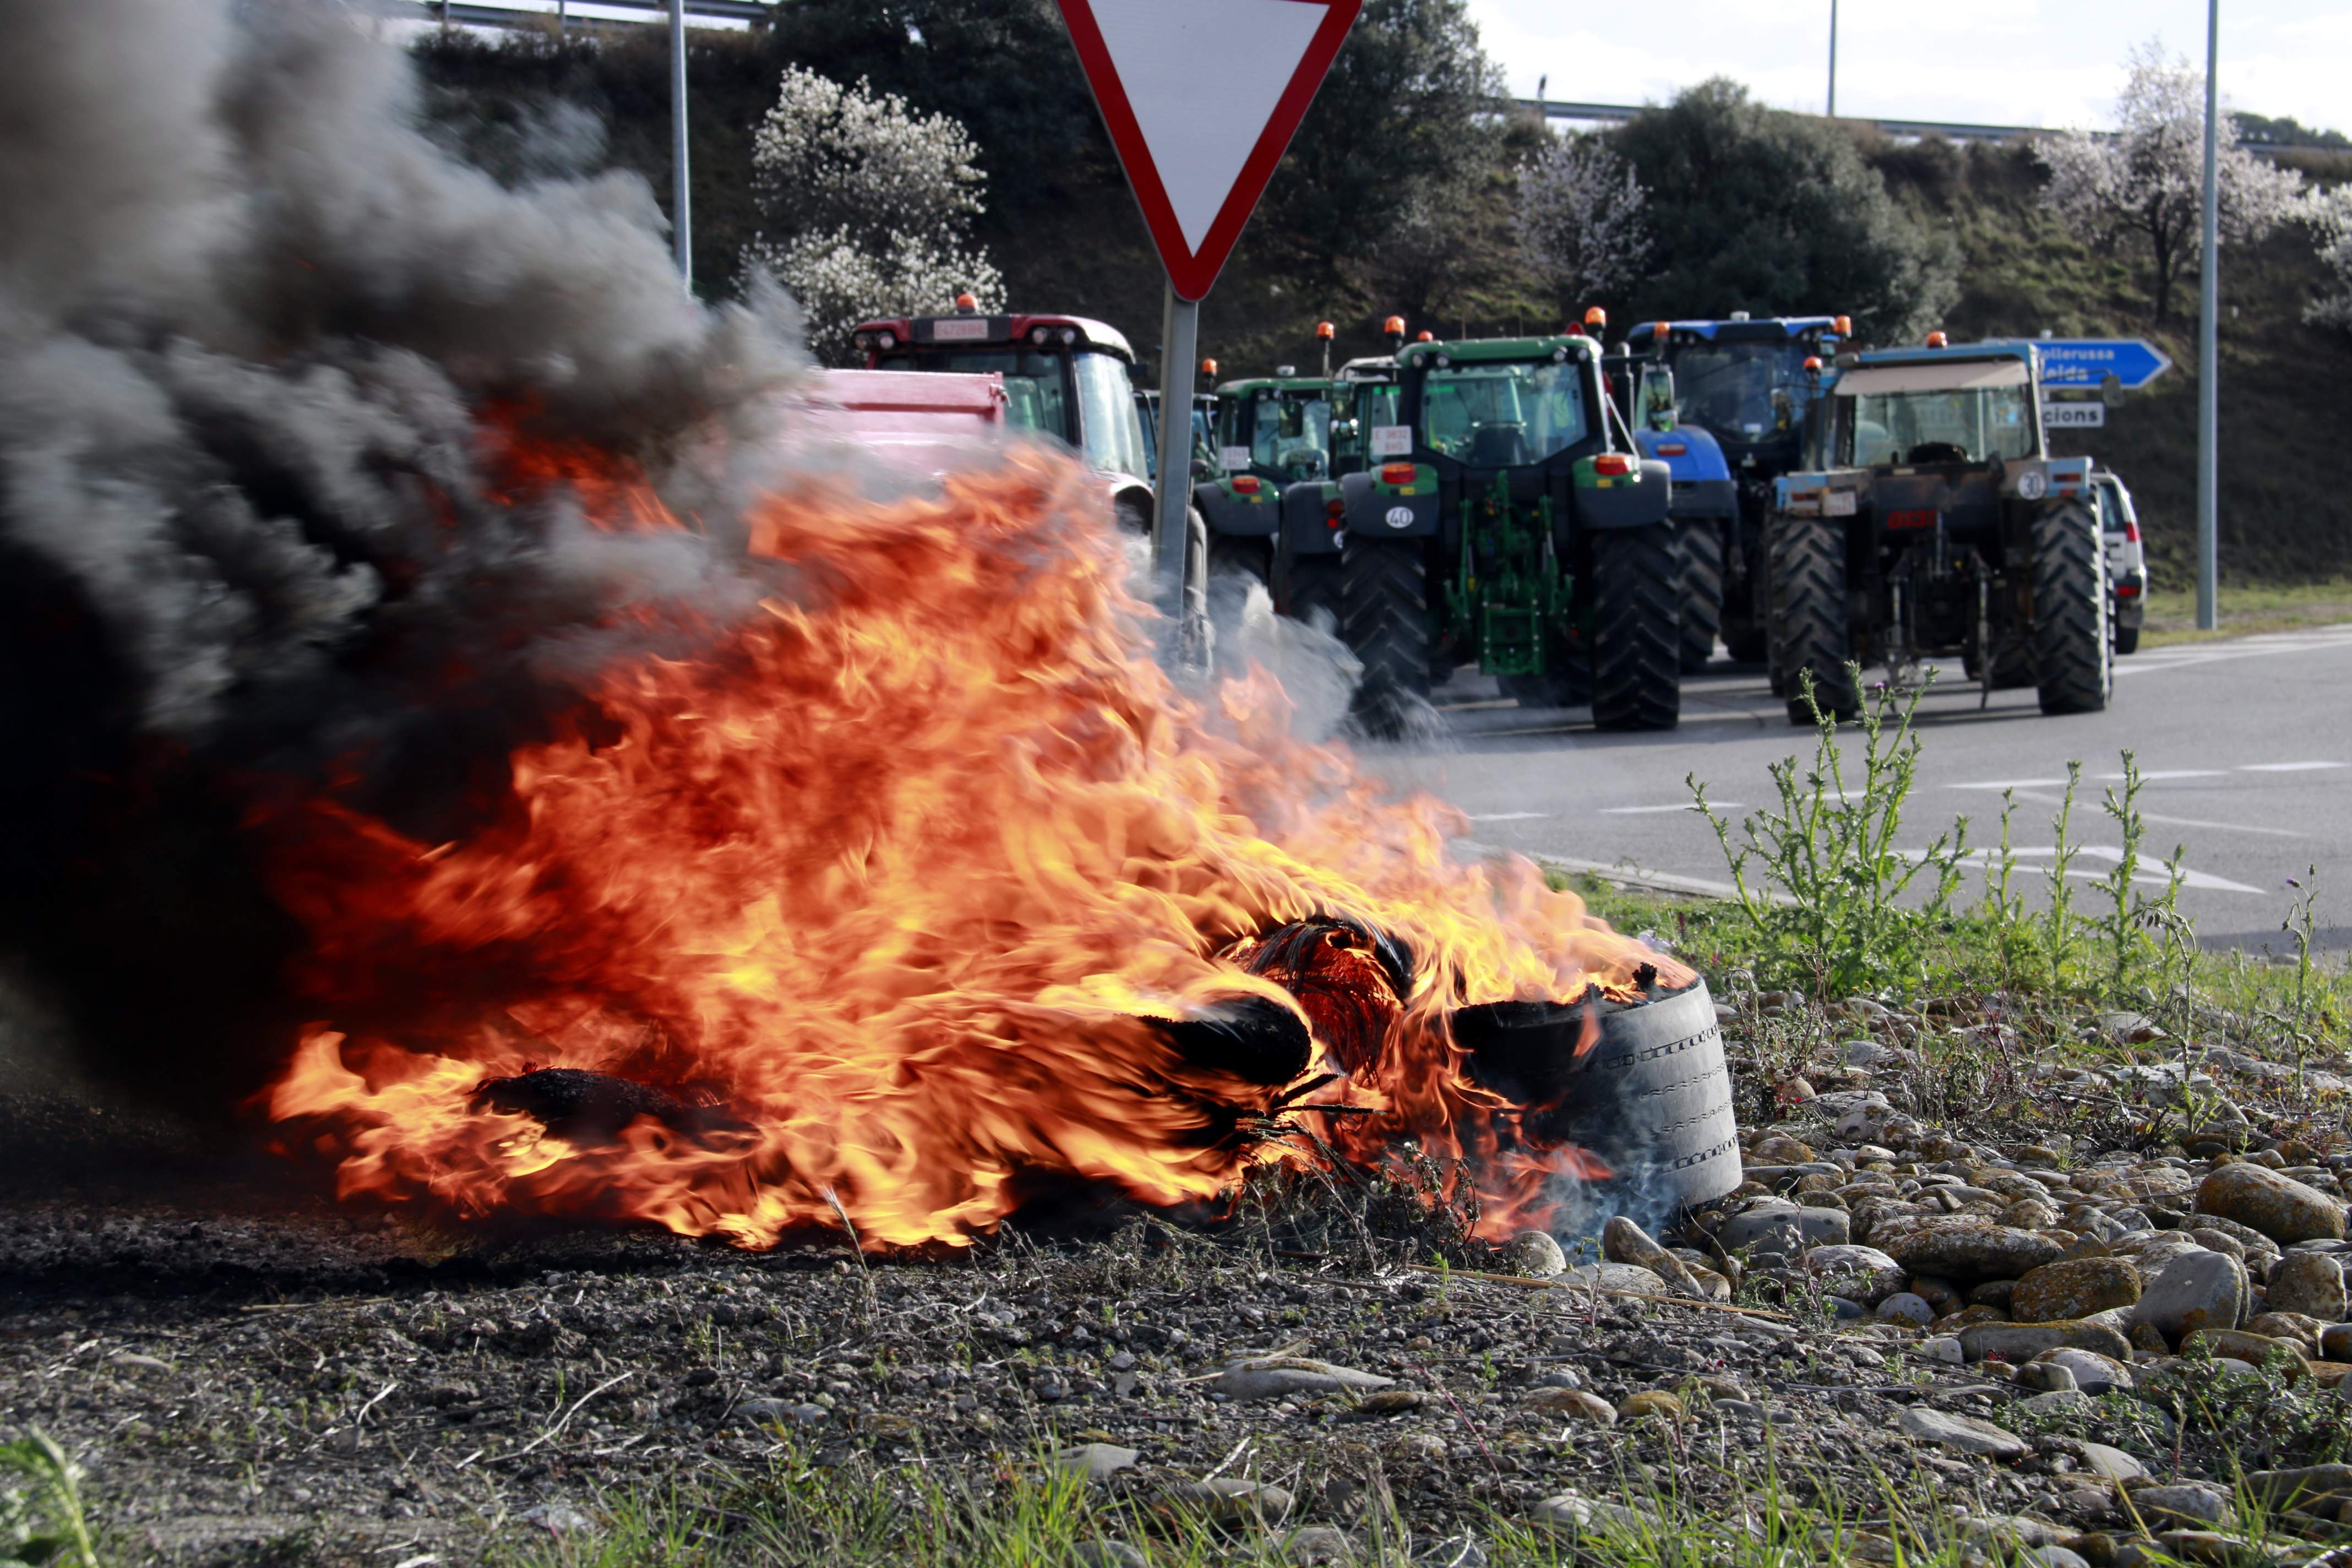
[[[786,68],[753,136],[760,233],[743,261],[800,301],[821,360],[847,362],[866,317],[946,310],[964,292],[1002,308],[1004,277],[971,240],[988,186],[978,155],[950,115]]]

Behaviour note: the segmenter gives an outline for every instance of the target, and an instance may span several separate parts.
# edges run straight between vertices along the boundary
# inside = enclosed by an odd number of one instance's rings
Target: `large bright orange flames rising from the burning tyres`
[[[569,468],[539,463],[513,473]],[[588,477],[602,527],[675,527],[612,463]],[[320,1023],[268,1112],[343,1194],[746,1246],[835,1211],[868,1246],[962,1244],[1040,1175],[1216,1199],[1301,1159],[1242,1126],[1282,1088],[1188,1065],[1150,1020],[1242,997],[1315,1030],[1301,1081],[1341,1077],[1303,1100],[1374,1112],[1327,1117],[1338,1147],[1470,1159],[1486,1229],[1588,1168],[1517,1145],[1449,1009],[1686,976],[1524,860],[1449,860],[1461,818],[1298,743],[1263,672],[1178,693],[1070,463],[1014,454],[891,505],[795,491],[750,522],[790,599],[703,658],[612,670],[468,842],[332,802],[275,823]],[[1254,973],[1261,933],[1315,914],[1395,936],[1406,994],[1345,938],[1298,997]],[[496,1079],[541,1067],[682,1114],[583,1135],[501,1107]]]

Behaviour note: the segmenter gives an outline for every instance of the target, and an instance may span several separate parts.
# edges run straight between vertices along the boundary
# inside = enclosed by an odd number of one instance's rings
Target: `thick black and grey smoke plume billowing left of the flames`
[[[800,364],[635,176],[501,188],[336,0],[0,0],[0,959],[92,1063],[228,1105],[296,931],[247,823],[343,780],[435,835],[623,644],[755,602],[739,456]],[[494,433],[699,529],[501,489]]]

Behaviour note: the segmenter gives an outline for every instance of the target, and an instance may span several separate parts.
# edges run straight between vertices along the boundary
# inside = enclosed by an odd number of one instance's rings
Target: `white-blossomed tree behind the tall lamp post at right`
[[[2204,226],[2204,75],[2150,40],[2126,56],[2119,125],[2105,136],[2065,132],[2039,146],[2042,200],[2100,249],[2131,244],[2150,261],[2154,320],[2171,313],[2173,282],[2197,263]],[[2239,146],[2218,127],[2220,237],[2260,240],[2293,216],[2303,176]]]

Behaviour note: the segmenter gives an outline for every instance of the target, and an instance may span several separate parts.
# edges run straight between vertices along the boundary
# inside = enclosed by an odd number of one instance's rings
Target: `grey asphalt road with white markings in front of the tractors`
[[[2018,863],[2049,867],[2067,762],[2082,762],[2074,877],[2100,877],[2122,853],[2100,799],[2129,748],[2147,778],[2143,853],[2169,860],[2185,846],[2183,910],[2201,940],[2291,950],[2279,933],[2296,896],[2286,879],[2317,865],[2319,943],[2352,947],[2352,625],[2122,658],[2103,715],[2042,717],[2032,691],[1997,691],[1978,710],[1957,661],[1936,684],[1919,705],[1919,788],[1898,844],[1926,844],[1955,816],[1969,816],[1971,844],[1990,844],[2002,790],[2013,788]],[[1778,799],[1771,762],[1813,750],[1762,668],[1722,661],[1684,679],[1682,729],[1663,736],[1604,736],[1588,710],[1519,708],[1477,675],[1435,701],[1446,738],[1425,752],[1378,752],[1381,773],[1456,802],[1482,844],[1630,865],[1693,891],[1722,886],[1726,865],[1684,776],[1696,773],[1736,820]],[[1846,750],[1858,788],[1860,738]],[[2161,884],[2164,870],[2143,877]],[[2042,870],[2023,879],[2046,886]],[[1976,886],[1971,877],[1964,898]]]

